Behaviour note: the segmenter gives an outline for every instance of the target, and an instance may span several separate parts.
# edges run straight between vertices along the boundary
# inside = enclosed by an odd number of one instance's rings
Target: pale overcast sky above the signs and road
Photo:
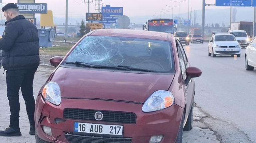
[[[53,10],[55,17],[65,16],[65,1],[66,0],[36,0],[36,3],[48,3],[48,10]],[[86,0],[87,1],[87,0]],[[90,0],[92,1],[92,0]],[[182,0],[176,0],[182,1]],[[3,3],[17,2],[17,0],[3,0]],[[90,12],[95,12],[95,4],[97,0],[90,3]],[[208,4],[214,4],[215,0],[206,0]],[[102,0],[101,4],[111,5],[116,7],[124,7],[124,15],[127,16],[143,16],[161,14],[159,10],[169,9],[166,5],[177,6],[178,3],[171,2],[171,0]],[[202,9],[202,0],[190,0],[190,8],[193,10]],[[207,6],[207,9],[216,8],[215,6]],[[223,8],[223,7],[218,7]],[[181,13],[188,12],[188,0],[180,3]],[[82,16],[88,11],[87,4],[83,0],[68,0],[68,11],[73,12],[72,16]],[[171,13],[171,12],[170,12]],[[174,14],[178,14],[178,7],[174,8]],[[70,13],[69,13],[70,16]]]

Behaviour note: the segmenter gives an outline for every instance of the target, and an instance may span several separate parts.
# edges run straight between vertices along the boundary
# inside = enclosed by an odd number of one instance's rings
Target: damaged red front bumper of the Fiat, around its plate
[[[65,136],[70,137],[73,135],[75,121],[96,124],[123,125],[123,138],[130,138],[132,140],[131,143],[148,143],[150,137],[155,135],[164,135],[161,143],[175,142],[183,114],[183,109],[176,104],[161,111],[143,113],[141,110],[141,104],[87,99],[62,99],[60,106],[54,106],[51,103],[44,102],[41,96],[39,96],[37,99],[36,107],[35,119],[37,135],[45,141],[56,143],[68,143],[68,137]],[[136,124],[120,124],[113,122],[73,119],[66,119],[65,121],[57,124],[55,119],[64,118],[63,111],[65,108],[131,112],[136,114],[137,119]],[[42,125],[51,127],[53,136],[49,136],[44,133],[42,130]],[[95,138],[90,135],[86,136]],[[80,136],[75,137],[78,138]],[[82,137],[85,137],[85,135],[82,135]],[[99,135],[99,137],[102,136]],[[104,137],[108,138],[108,136]],[[69,143],[72,143],[72,141]]]

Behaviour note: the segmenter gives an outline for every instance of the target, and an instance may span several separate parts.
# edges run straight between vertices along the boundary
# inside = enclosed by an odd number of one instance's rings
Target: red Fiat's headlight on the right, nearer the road
[[[143,112],[153,112],[165,109],[174,104],[174,96],[170,91],[158,90],[143,104]]]

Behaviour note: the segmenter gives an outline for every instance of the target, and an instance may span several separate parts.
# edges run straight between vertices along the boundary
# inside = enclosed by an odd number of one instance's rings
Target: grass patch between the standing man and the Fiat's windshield
[[[40,48],[40,55],[65,56],[72,47]]]

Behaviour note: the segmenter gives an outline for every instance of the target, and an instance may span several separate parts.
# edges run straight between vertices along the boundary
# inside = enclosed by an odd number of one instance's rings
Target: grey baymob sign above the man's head
[[[45,3],[16,3],[20,13],[23,14],[47,14],[47,4]]]

